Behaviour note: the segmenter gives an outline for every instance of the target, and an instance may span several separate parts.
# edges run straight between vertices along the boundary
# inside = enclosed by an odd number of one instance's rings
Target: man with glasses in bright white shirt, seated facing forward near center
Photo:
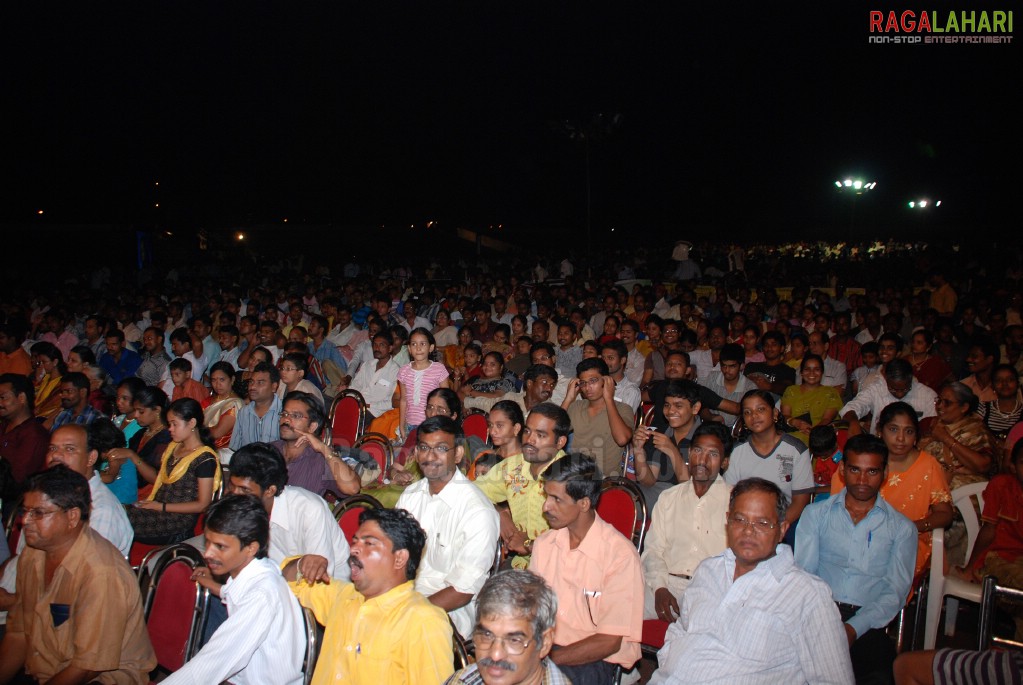
[[[448,612],[459,635],[473,630],[472,601],[494,565],[497,511],[457,464],[465,456],[461,427],[447,416],[419,424],[415,460],[422,472],[398,498],[427,534],[415,589]]]

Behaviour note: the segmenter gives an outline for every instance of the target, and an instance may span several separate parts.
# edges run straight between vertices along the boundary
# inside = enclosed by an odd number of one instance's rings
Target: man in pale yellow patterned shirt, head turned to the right
[[[570,432],[567,411],[548,402],[536,405],[522,429],[522,454],[503,459],[476,480],[491,502],[507,504],[498,507],[501,540],[509,552],[519,555],[511,560],[516,568],[529,565],[533,541],[549,528],[543,517],[546,495],[540,476],[565,456]]]

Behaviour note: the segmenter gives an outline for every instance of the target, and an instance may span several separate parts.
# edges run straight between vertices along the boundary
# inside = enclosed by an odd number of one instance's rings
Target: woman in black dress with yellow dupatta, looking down
[[[147,545],[192,537],[198,515],[213,501],[222,478],[198,402],[184,398],[171,403],[167,423],[173,442],[164,452],[160,471],[144,462],[136,464],[142,477],[153,482],[152,492],[128,507],[136,542]]]

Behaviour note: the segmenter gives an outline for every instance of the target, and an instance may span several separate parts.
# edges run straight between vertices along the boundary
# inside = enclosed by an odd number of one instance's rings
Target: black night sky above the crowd
[[[900,5],[12,4],[7,225],[584,230],[572,127],[597,236],[1018,225],[1020,46],[869,45]]]

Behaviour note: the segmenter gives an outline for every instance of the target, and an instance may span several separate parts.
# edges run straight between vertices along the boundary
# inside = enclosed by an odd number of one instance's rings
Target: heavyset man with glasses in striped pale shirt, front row
[[[657,654],[651,685],[853,682],[831,589],[799,568],[788,545],[786,499],[770,481],[731,491],[728,548],[703,561]]]

